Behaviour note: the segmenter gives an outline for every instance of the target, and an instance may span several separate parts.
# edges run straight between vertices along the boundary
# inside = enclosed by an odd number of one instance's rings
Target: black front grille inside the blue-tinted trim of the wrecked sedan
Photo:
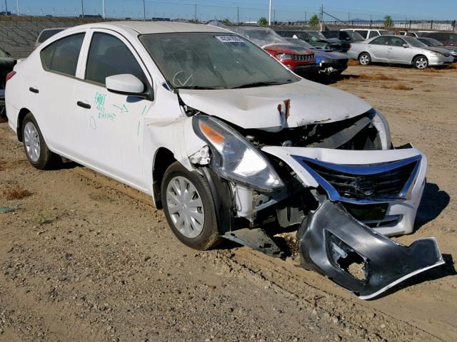
[[[332,170],[313,162],[307,164],[326,180],[340,196],[353,199],[398,197],[416,167],[416,162],[373,175],[357,175]],[[370,167],[371,165],[364,165]]]

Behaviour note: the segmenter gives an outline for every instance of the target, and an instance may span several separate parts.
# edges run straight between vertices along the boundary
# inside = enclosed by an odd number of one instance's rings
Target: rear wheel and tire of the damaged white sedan
[[[49,150],[31,113],[28,113],[22,122],[22,144],[27,159],[37,169],[49,170],[56,166],[57,155]]]

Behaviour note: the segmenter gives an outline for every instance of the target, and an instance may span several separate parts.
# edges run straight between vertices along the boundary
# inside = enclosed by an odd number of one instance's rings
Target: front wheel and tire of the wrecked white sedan
[[[180,195],[183,190],[184,194]],[[204,177],[174,162],[165,171],[161,200],[166,221],[179,241],[200,250],[219,244],[221,236],[213,195]]]

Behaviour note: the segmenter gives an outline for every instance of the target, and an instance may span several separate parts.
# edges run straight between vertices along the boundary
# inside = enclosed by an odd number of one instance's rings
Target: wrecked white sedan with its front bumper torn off
[[[7,79],[9,125],[32,165],[63,157],[150,194],[189,247],[226,238],[279,257],[263,229],[276,222],[298,230],[304,267],[363,299],[444,263],[433,238],[387,237],[413,229],[426,157],[394,149],[368,103],[223,28],[76,26]]]

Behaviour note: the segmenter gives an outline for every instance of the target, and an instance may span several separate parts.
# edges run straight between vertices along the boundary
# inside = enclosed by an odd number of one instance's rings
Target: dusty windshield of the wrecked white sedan
[[[139,37],[174,88],[229,89],[300,78],[255,44],[231,33],[156,33]]]

